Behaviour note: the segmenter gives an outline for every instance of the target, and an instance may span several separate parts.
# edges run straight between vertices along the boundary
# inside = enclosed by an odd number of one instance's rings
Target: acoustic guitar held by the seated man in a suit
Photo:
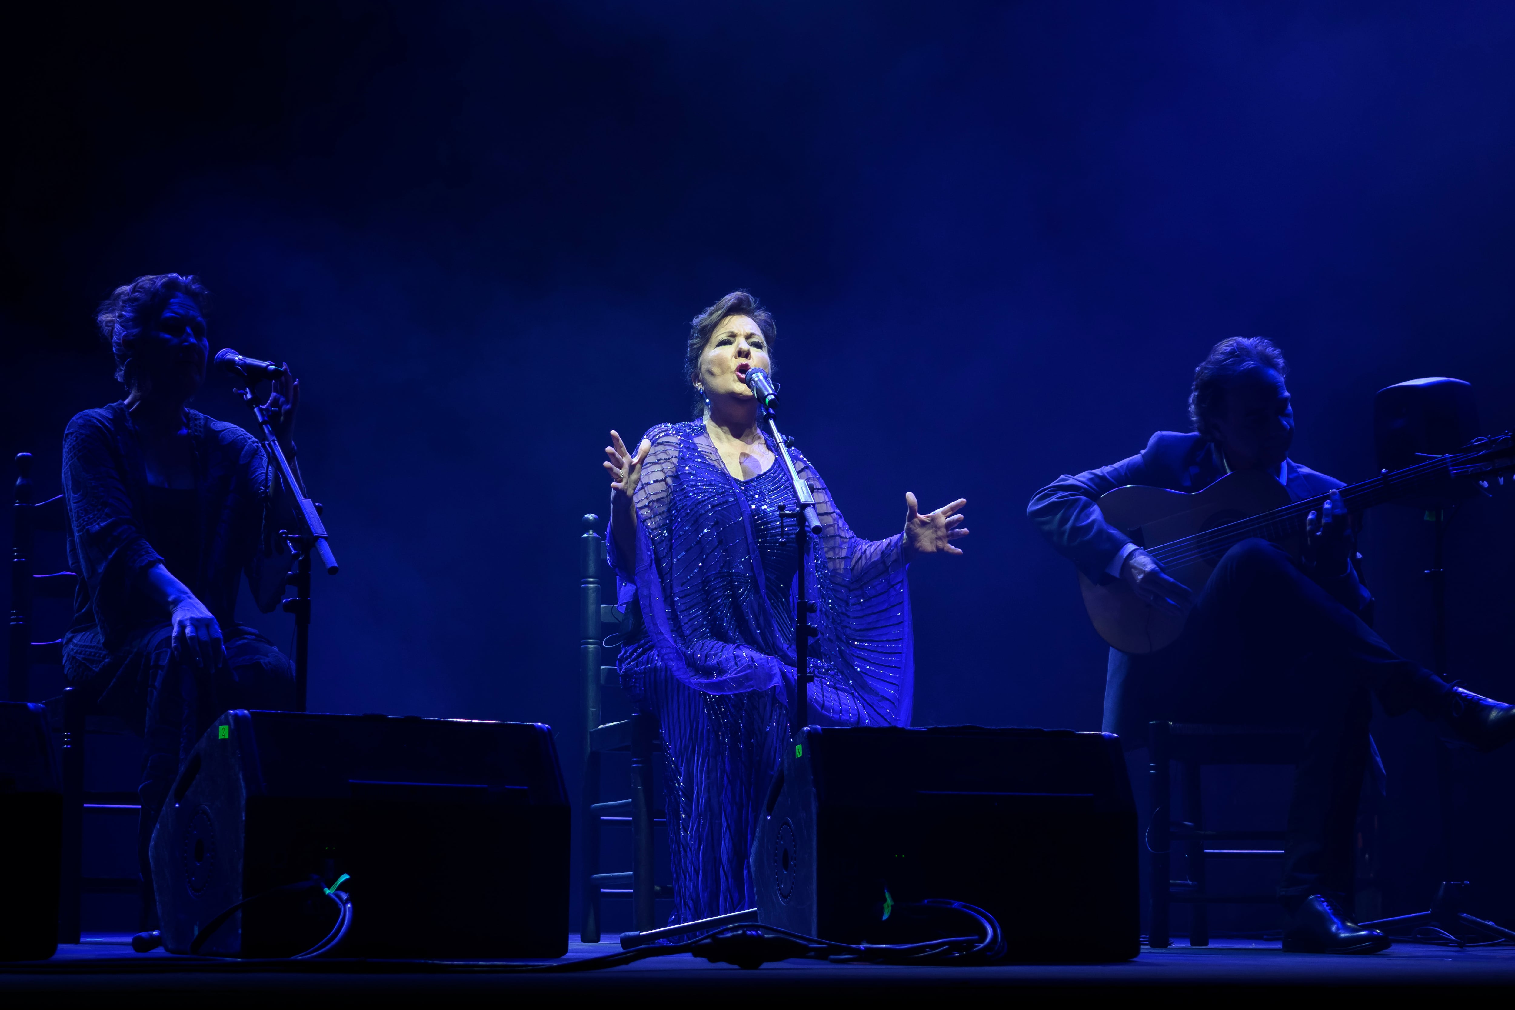
[[[1341,489],[1347,509],[1362,512],[1383,501],[1412,495],[1454,480],[1488,483],[1515,471],[1515,438],[1470,442],[1460,453],[1436,456],[1394,472],[1385,471]],[[1221,556],[1250,538],[1262,538],[1289,551],[1304,548],[1304,519],[1326,495],[1289,501],[1277,480],[1256,471],[1238,471],[1204,491],[1185,494],[1130,485],[1098,501],[1104,521],[1132,538],[1164,571],[1198,592]],[[1142,601],[1121,578],[1092,581],[1079,572],[1083,606],[1106,642],[1126,653],[1154,653],[1183,631],[1185,616],[1173,618]]]

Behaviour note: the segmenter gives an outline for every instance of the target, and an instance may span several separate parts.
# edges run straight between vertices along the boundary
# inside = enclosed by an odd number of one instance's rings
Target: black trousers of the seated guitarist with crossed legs
[[[1450,686],[1256,539],[1226,553],[1173,650],[1148,690],[1174,721],[1306,730],[1279,893],[1351,893],[1370,692],[1389,715],[1435,716]]]

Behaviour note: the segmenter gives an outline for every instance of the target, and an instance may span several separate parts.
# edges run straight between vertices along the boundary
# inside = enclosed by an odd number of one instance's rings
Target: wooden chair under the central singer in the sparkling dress
[[[579,939],[600,942],[600,899],[606,895],[632,899],[632,918],[639,931],[653,930],[656,899],[671,898],[673,889],[653,880],[656,825],[667,825],[662,810],[653,809],[653,762],[662,753],[658,725],[650,713],[633,712],[627,719],[603,722],[604,690],[618,690],[615,666],[601,665],[606,627],[618,627],[615,604],[600,603],[600,572],[604,568],[604,539],[600,516],[583,516],[579,538],[579,669],[585,697],[585,756],[582,839],[583,839],[583,922]],[[603,756],[630,753],[632,781],[629,800],[601,800]],[[632,828],[632,869],[600,872],[600,833],[606,825]]]

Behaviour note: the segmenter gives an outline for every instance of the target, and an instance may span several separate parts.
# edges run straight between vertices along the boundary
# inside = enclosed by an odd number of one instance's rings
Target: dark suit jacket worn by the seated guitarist
[[[1318,474],[1294,460],[1285,462],[1289,498],[1300,501],[1327,494],[1342,482]],[[1112,527],[1100,515],[1100,495],[1126,485],[1145,485],[1170,491],[1201,491],[1226,474],[1220,450],[1192,432],[1157,432],[1136,456],[1118,463],[1085,471],[1076,477],[1064,474],[1032,495],[1026,513],[1047,542],[1089,578],[1107,580],[1106,566],[1130,538]],[[1356,556],[1356,554],[1353,554]],[[1318,580],[1338,603],[1359,616],[1367,616],[1373,597],[1348,565],[1339,578]],[[1197,589],[1197,586],[1195,586]],[[1173,660],[1173,650],[1133,656],[1110,650],[1104,677],[1104,731],[1118,733],[1127,748],[1142,747],[1147,722],[1160,718],[1144,700],[1144,692],[1132,690],[1139,681],[1159,678]]]

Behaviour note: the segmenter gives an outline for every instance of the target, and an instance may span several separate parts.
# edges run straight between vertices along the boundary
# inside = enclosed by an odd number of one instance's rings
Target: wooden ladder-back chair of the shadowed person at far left
[[[6,687],[11,701],[29,701],[33,666],[61,666],[64,642],[32,641],[33,603],[38,598],[68,600],[74,595],[79,575],[71,571],[33,574],[32,556],[36,533],[62,535],[68,528],[64,497],[56,495],[33,503],[32,454],[15,457],[15,506],[12,509],[11,559],[11,637]],[[61,698],[47,703],[55,730],[62,733],[64,828],[62,828],[62,889],[59,895],[58,940],[77,943],[80,906],[85,893],[141,895],[142,883],[135,877],[83,875],[83,818],[89,815],[138,816],[141,804],[135,792],[85,792],[85,740],[92,733],[120,734],[126,727],[118,719],[89,712],[85,694],[65,687]],[[142,896],[144,901],[147,899]]]

